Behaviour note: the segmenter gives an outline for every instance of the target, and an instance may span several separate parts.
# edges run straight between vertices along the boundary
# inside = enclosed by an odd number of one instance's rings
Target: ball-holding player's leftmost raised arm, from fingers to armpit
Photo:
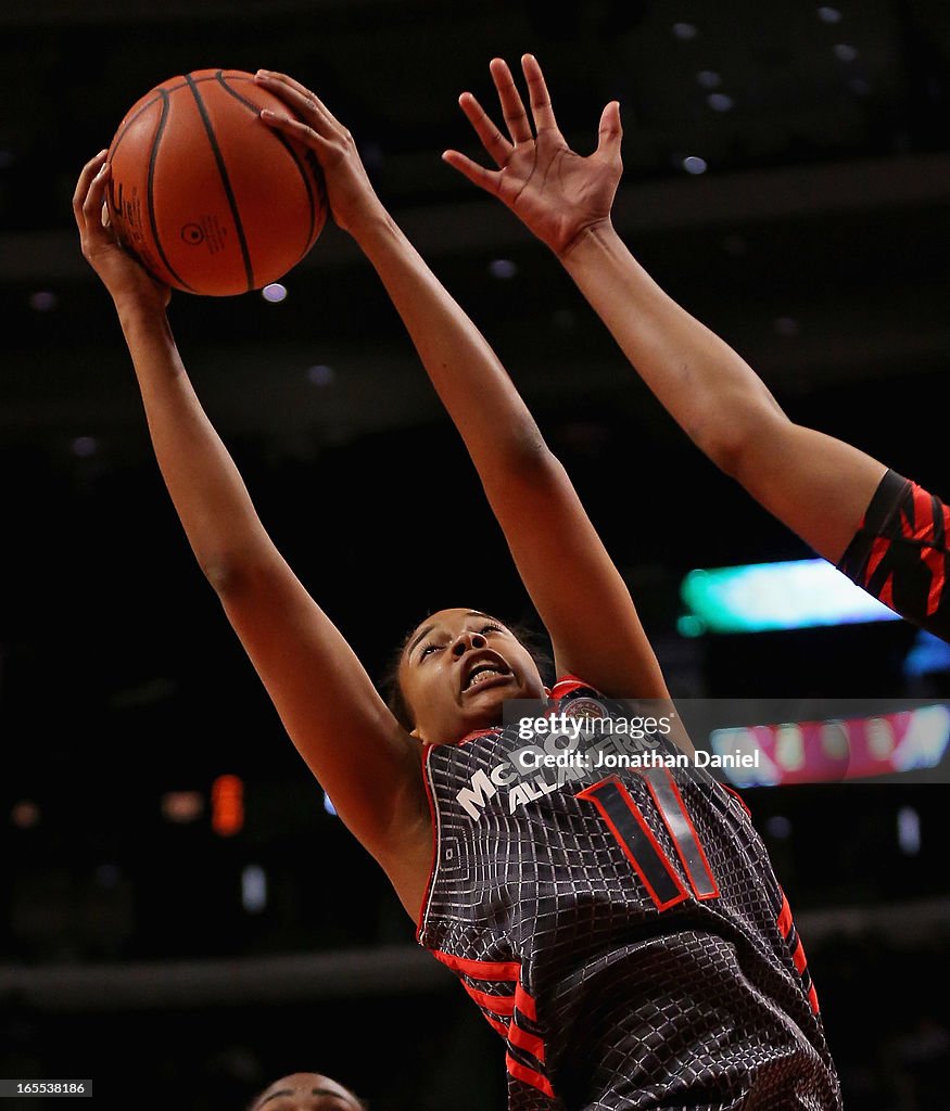
[[[82,252],[112,296],[168,492],[287,732],[414,914],[427,861],[413,851],[429,849],[416,744],[260,523],[185,372],[166,317],[169,291],[102,224],[105,157],[83,168],[73,212]]]

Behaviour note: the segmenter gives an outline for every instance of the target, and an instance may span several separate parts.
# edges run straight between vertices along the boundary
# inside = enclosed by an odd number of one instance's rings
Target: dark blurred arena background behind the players
[[[504,1102],[496,1035],[324,809],[194,564],[78,251],[80,167],[167,77],[286,70],[352,128],[575,479],[674,694],[949,692],[946,659],[909,667],[902,622],[677,633],[690,569],[809,552],[689,444],[554,259],[439,161],[473,150],[457,94],[491,100],[488,60],[525,50],[582,152],[620,99],[616,223],[661,284],[793,418],[950,494],[942,0],[3,0],[0,1075],[91,1077],[106,1108],[226,1111],[295,1070],[374,1111]],[[280,303],[176,296],[170,314],[290,563],[374,674],[433,608],[524,615],[368,264],[328,227],[285,284]],[[748,792],[862,1111],[946,1107],[947,800]]]

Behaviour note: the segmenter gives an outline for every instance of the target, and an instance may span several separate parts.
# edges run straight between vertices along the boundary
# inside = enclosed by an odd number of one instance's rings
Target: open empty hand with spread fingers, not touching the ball
[[[486,169],[457,150],[447,150],[442,157],[504,201],[542,242],[563,256],[585,231],[610,222],[623,171],[620,104],[613,100],[604,108],[597,149],[584,158],[571,150],[557,129],[544,74],[534,56],[522,58],[533,129],[507,62],[495,58],[491,70],[508,134],[492,122],[471,92],[463,92],[458,103],[497,169]]]

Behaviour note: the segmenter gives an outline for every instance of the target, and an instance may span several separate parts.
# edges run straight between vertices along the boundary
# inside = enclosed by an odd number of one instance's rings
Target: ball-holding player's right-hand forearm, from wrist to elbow
[[[546,453],[537,426],[485,338],[383,213],[357,234],[483,481]]]

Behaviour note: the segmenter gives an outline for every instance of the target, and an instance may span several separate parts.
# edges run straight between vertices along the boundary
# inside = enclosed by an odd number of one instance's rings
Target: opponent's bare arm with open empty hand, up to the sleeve
[[[803,540],[841,559],[885,472],[840,440],[792,423],[751,367],[676,304],[614,231],[611,208],[621,163],[620,106],[601,116],[590,157],[557,128],[537,61],[522,68],[528,120],[501,59],[492,76],[506,137],[471,93],[459,104],[496,169],[458,151],[445,160],[497,197],[546,243],[576,282],[643,381],[693,442]]]

